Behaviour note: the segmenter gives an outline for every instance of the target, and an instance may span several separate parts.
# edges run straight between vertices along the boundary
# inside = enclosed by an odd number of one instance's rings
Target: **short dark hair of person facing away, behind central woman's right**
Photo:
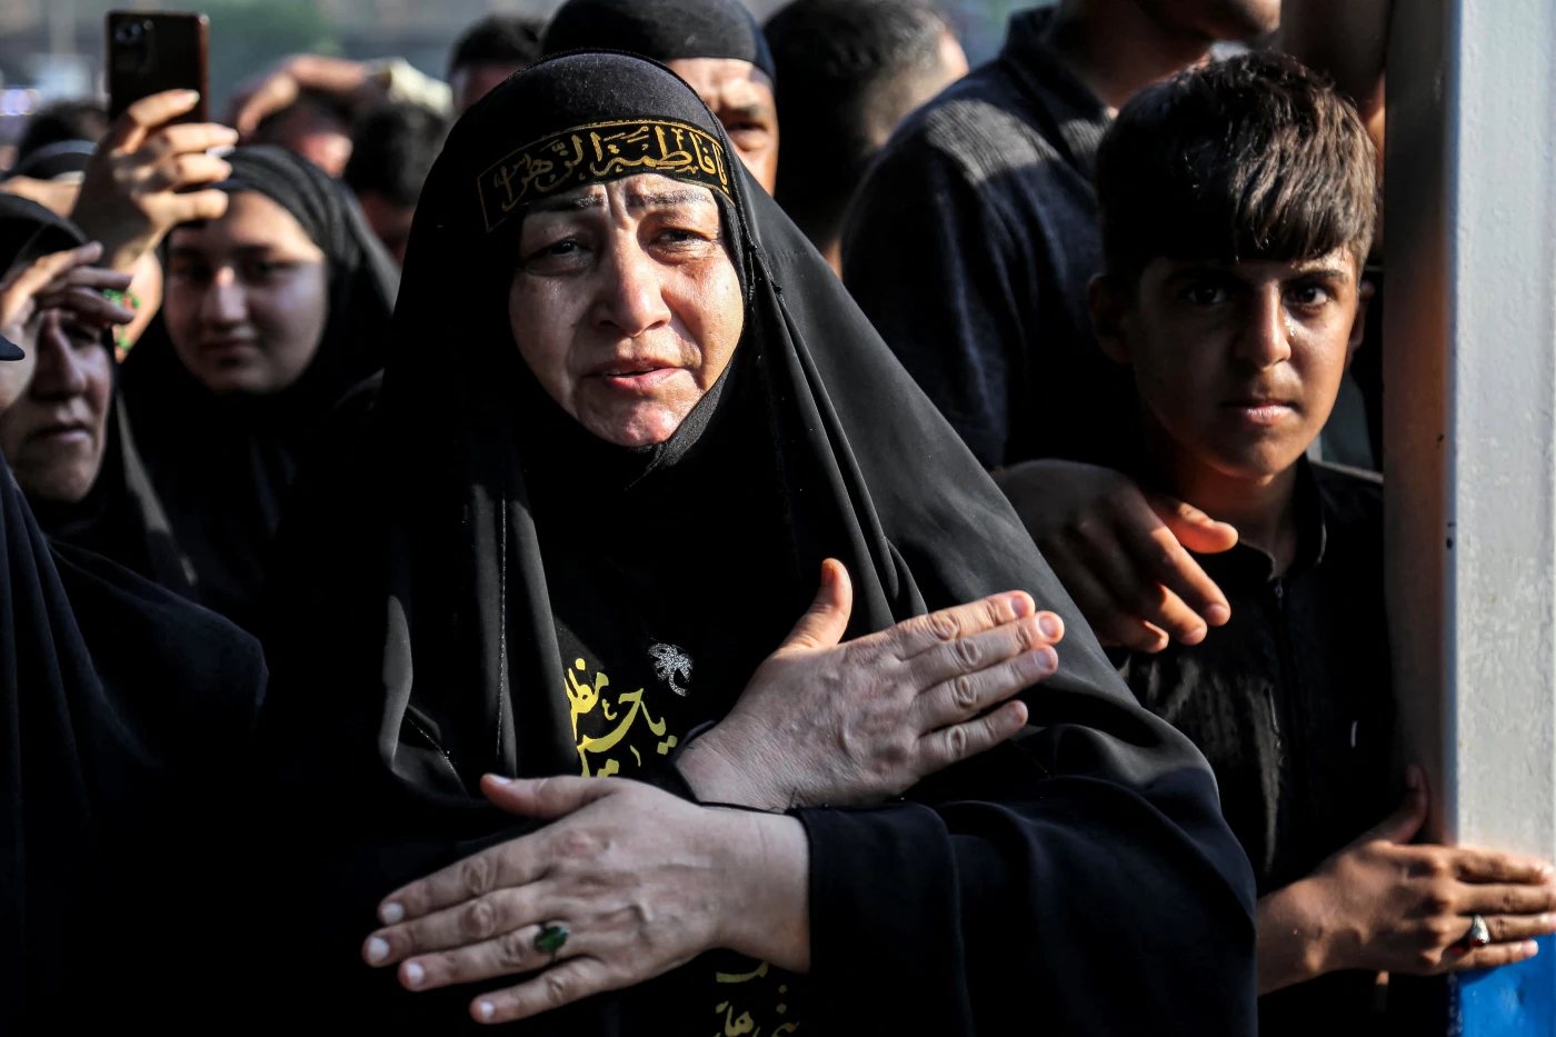
[[[794,0],[767,19],[783,128],[778,204],[812,240],[840,234],[879,125],[895,123],[901,95],[940,65],[943,33],[924,0]]]

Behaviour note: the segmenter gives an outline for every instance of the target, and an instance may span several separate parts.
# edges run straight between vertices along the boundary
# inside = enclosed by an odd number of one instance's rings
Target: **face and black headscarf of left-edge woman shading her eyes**
[[[0,268],[78,249],[73,223],[23,198],[0,196]],[[128,276],[106,277],[128,282]],[[120,311],[120,318],[132,316]],[[62,310],[42,318],[34,371],[0,411],[0,452],[44,531],[191,598],[188,571],[131,434],[114,338]]]

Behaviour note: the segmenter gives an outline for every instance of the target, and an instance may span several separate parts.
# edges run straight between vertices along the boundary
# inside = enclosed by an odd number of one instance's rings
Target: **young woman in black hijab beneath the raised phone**
[[[124,395],[199,599],[247,624],[299,461],[383,366],[397,272],[308,160],[257,146],[227,162],[226,215],[168,235],[162,311],[124,361]]]

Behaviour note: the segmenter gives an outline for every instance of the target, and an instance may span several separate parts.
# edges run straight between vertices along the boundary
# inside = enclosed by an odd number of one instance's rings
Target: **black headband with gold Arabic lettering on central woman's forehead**
[[[490,234],[543,195],[630,173],[658,173],[730,195],[717,137],[658,118],[590,123],[534,140],[498,159],[476,182]]]

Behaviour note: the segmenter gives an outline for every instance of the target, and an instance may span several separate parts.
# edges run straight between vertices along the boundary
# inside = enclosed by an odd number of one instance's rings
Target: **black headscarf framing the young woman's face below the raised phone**
[[[325,255],[328,305],[319,350],[289,388],[215,395],[184,366],[159,315],[124,361],[124,397],[142,456],[199,599],[247,624],[282,500],[324,417],[383,366],[398,276],[355,202],[289,151],[240,148],[227,193],[258,192],[289,212]]]

